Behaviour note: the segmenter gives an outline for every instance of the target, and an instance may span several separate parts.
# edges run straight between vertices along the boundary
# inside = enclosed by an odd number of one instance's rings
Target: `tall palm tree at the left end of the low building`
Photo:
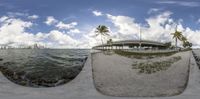
[[[95,30],[96,36],[100,35],[101,36],[101,43],[103,44],[103,36],[109,36],[109,30],[108,27],[105,25],[99,25],[96,30]]]

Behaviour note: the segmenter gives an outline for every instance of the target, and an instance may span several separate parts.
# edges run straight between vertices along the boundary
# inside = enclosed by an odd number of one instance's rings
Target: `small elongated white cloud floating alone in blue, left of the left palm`
[[[66,30],[68,30],[68,29],[74,28],[76,25],[78,25],[77,22],[71,22],[69,24],[65,24],[63,22],[59,22],[56,25],[56,27],[59,28],[59,29],[66,29]]]

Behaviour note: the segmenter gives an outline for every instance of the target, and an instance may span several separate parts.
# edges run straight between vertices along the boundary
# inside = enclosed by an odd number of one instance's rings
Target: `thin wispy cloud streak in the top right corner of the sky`
[[[191,2],[191,1],[158,1],[158,4],[175,4],[186,7],[198,7],[200,6],[199,2]]]

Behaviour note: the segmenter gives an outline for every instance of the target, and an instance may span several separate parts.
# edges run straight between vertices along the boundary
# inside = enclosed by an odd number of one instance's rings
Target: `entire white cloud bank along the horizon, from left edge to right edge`
[[[180,19],[177,23],[171,15],[170,11],[156,13],[146,18],[146,23],[138,23],[134,17],[124,15],[104,14],[111,23],[109,26],[110,37],[105,37],[104,43],[109,38],[116,40],[139,39],[141,30],[142,39],[160,42],[168,42],[174,40],[170,33],[174,32],[175,25],[178,30],[183,32],[194,46],[200,47],[200,30],[192,30],[184,27]],[[35,43],[45,45],[51,48],[91,48],[101,44],[101,37],[95,37],[95,26],[91,26],[86,30],[79,30],[76,26],[77,22],[64,23],[55,19],[53,16],[47,18],[45,22],[53,25],[54,28],[47,32],[29,33],[27,29],[32,28],[34,24],[31,21],[24,21],[20,18],[2,16],[0,17],[0,45],[7,46],[31,46]],[[77,38],[78,35],[78,38]],[[179,45],[181,43],[179,42]]]

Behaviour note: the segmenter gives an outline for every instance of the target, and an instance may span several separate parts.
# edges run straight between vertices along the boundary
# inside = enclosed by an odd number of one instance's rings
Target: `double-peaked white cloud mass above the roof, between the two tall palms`
[[[151,16],[145,24],[137,23],[135,18],[128,16],[114,16],[107,14],[106,17],[116,27],[115,33],[112,34],[114,39],[139,39],[140,32],[142,39],[166,42],[171,41],[171,35],[174,31],[175,22],[170,15],[172,12],[166,11],[156,16]]]

